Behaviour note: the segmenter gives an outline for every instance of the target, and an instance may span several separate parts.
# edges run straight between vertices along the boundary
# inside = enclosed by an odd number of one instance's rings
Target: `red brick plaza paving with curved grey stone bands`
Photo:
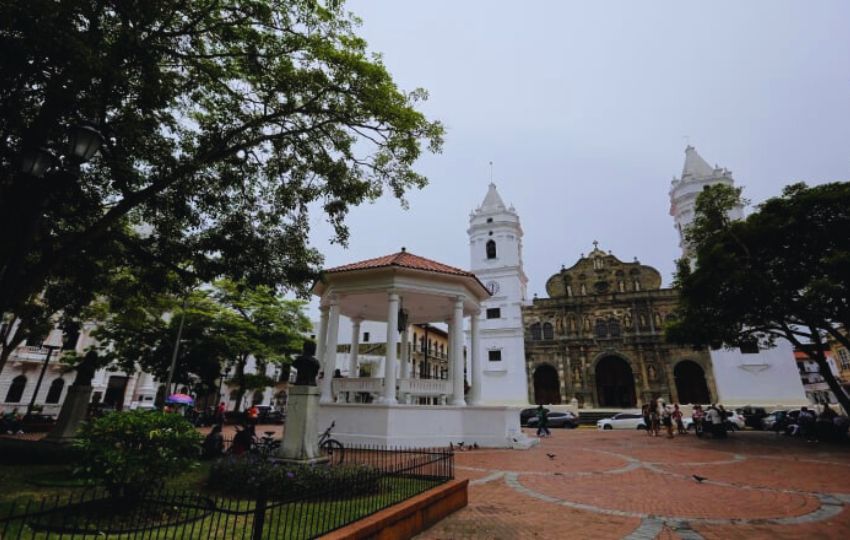
[[[553,430],[531,450],[456,464],[469,506],[419,538],[850,538],[846,445]]]

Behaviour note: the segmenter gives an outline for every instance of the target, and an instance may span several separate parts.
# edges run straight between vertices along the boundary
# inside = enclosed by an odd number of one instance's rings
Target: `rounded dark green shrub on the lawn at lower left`
[[[113,412],[83,424],[76,442],[84,475],[114,496],[138,495],[191,466],[200,434],[182,416],[157,411]]]

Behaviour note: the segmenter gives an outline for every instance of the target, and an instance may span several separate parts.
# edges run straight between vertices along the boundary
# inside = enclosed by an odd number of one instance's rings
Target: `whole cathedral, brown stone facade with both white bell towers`
[[[734,186],[732,173],[710,166],[692,146],[670,186],[670,214],[684,240],[705,186]],[[741,219],[743,207],[730,212]],[[696,350],[665,342],[678,292],[637,260],[623,262],[594,242],[570,268],[546,282],[548,298],[529,299],[519,215],[490,184],[467,231],[470,268],[491,297],[480,321],[483,403],[632,408],[655,397],[727,406],[806,403],[793,350]]]

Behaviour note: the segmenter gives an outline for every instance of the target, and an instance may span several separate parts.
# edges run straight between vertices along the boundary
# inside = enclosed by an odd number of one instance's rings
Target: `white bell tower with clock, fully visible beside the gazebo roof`
[[[528,278],[522,267],[522,227],[490,184],[469,216],[470,270],[492,295],[479,315],[481,398],[473,405],[528,405],[522,305]]]

